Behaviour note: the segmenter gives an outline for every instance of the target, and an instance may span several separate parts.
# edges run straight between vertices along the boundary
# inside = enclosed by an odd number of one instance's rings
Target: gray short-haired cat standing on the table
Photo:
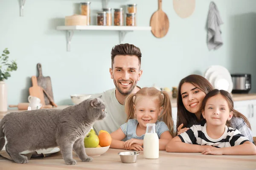
[[[102,99],[87,99],[63,110],[40,109],[9,113],[0,121],[0,150],[7,139],[6,152],[17,163],[27,163],[25,150],[60,147],[66,164],[76,164],[72,150],[81,161],[93,161],[84,149],[84,137],[94,122],[107,116]]]

